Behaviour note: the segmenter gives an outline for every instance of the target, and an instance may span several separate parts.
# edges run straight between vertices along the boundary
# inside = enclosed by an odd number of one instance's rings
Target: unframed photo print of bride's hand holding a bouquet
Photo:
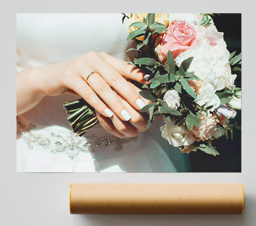
[[[17,14],[17,172],[241,172],[241,14]]]

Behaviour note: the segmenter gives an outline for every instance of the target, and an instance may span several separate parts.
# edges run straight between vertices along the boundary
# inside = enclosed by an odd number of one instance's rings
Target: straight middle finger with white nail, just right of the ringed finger
[[[129,85],[125,78],[116,71],[111,65],[105,62],[98,54],[93,53],[86,61],[95,71],[98,71],[100,76],[113,87],[120,95],[122,95],[133,107],[140,110],[145,106],[140,95]]]

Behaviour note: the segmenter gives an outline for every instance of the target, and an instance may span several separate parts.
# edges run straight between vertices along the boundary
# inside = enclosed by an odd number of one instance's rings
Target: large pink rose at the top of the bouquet
[[[158,39],[159,40],[159,39]],[[170,50],[174,59],[186,49],[195,47],[200,37],[196,35],[192,25],[186,21],[174,20],[168,26],[161,40],[156,43],[159,59],[164,63]],[[161,56],[160,56],[161,55]]]

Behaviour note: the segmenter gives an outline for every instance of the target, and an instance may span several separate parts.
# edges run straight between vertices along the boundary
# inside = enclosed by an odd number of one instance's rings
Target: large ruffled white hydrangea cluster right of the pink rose
[[[223,39],[223,33],[218,32],[214,25],[207,28],[194,25],[201,41],[195,48],[188,49],[176,58],[176,63],[189,57],[194,57],[188,71],[195,71],[195,75],[205,84],[211,83],[215,90],[233,88],[236,75],[231,74],[229,65],[230,53]]]

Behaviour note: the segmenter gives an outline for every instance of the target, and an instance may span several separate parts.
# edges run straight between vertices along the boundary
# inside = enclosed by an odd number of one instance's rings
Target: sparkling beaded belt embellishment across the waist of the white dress
[[[96,155],[97,148],[111,147],[116,151],[122,150],[124,144],[137,140],[138,136],[119,138],[117,136],[97,136],[96,133],[91,133],[88,136],[79,137],[69,131],[67,136],[61,136],[57,133],[51,132],[48,136],[43,133],[37,133],[35,124],[30,123],[28,126],[23,124],[20,118],[17,118],[17,124],[20,130],[17,130],[17,136],[23,138],[29,149],[33,149],[34,145],[51,150],[51,153],[65,152],[74,159],[79,152],[90,152]]]

